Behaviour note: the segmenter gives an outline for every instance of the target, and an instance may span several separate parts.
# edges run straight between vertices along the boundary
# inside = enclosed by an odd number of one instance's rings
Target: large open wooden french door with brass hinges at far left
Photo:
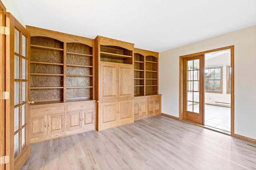
[[[30,34],[10,14],[6,13],[6,169],[21,169],[30,155],[29,141],[29,61]]]

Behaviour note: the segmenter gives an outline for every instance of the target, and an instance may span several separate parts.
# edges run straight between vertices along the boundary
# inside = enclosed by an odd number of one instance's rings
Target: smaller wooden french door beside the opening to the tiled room
[[[183,119],[204,124],[204,55],[184,58]]]

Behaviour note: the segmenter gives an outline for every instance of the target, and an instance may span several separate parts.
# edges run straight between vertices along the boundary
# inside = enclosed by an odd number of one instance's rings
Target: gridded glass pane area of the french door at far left
[[[27,145],[27,40],[22,32],[14,29],[14,158]]]

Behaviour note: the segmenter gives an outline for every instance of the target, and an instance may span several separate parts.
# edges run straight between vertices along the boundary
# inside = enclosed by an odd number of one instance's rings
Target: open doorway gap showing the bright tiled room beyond
[[[231,50],[204,55],[204,125],[231,132]]]

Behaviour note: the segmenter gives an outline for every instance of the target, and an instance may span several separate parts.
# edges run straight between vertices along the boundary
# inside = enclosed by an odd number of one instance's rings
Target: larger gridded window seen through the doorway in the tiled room
[[[222,67],[208,67],[204,71],[205,92],[222,93]]]

